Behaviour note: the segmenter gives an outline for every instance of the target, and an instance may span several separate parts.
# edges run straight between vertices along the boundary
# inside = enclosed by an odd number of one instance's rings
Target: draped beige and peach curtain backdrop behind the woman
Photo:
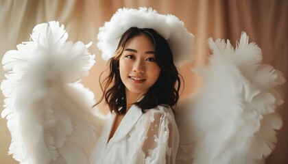
[[[241,31],[246,31],[250,40],[259,44],[263,50],[263,61],[282,71],[285,79],[288,79],[288,1],[285,0],[0,0],[0,55],[3,57],[5,51],[16,49],[16,44],[29,40],[29,34],[36,24],[58,20],[65,25],[69,40],[94,42],[89,50],[97,56],[97,61],[83,83],[97,95],[100,93],[99,73],[106,68],[106,63],[95,46],[98,28],[109,20],[118,8],[140,6],[152,7],[162,14],[178,16],[196,36],[196,57],[180,70],[185,81],[182,97],[193,93],[201,83],[201,78],[193,74],[190,68],[206,64],[211,53],[207,39],[229,39],[235,45]],[[3,70],[0,76],[2,80]],[[288,163],[287,85],[281,90],[286,97],[285,104],[278,111],[284,124],[278,132],[276,150],[266,160],[269,164]],[[2,94],[0,101],[3,105]],[[12,156],[8,156],[11,138],[5,119],[0,119],[0,131],[0,163],[16,163]]]

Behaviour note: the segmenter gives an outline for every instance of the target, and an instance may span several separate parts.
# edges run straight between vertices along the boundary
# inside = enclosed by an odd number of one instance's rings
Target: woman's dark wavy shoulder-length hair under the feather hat
[[[173,55],[167,41],[154,29],[139,29],[131,27],[121,37],[115,55],[110,58],[109,74],[99,83],[103,92],[99,102],[105,98],[105,102],[110,107],[110,111],[117,114],[126,113],[125,85],[121,81],[119,72],[119,59],[123,53],[124,46],[130,38],[144,34],[154,44],[156,63],[160,67],[158,80],[149,88],[143,98],[135,102],[134,105],[141,108],[145,113],[147,109],[153,109],[158,105],[173,106],[177,104],[180,90],[180,74],[173,63]],[[104,72],[100,75],[103,75]],[[97,102],[97,104],[99,104]],[[97,105],[96,104],[96,105]],[[174,111],[173,111],[174,112]]]

